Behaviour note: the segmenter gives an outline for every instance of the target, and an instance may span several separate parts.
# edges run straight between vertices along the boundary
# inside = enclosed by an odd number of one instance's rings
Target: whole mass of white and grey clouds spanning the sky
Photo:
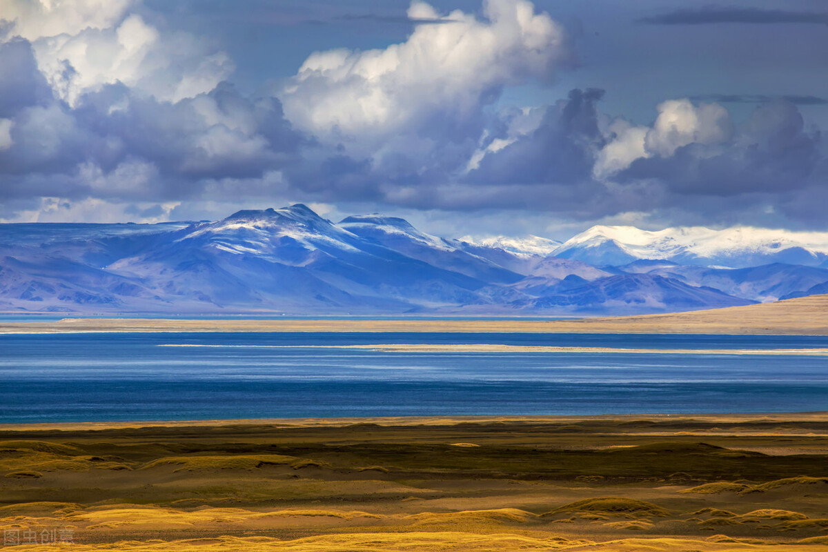
[[[603,113],[599,89],[503,106],[503,89],[573,59],[527,0],[484,0],[482,15],[415,0],[407,40],[317,52],[255,97],[226,81],[221,50],[131,0],[7,0],[0,19],[0,220],[300,200],[445,220],[826,224],[825,148],[796,105],[820,98],[666,99],[647,124]],[[758,106],[736,122],[716,98]]]

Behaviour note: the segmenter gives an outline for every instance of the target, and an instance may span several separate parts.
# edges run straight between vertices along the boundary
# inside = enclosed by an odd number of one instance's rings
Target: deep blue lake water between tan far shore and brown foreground
[[[828,410],[828,357],[308,347],[373,343],[828,348],[826,337],[802,336],[0,335],[0,423]]]

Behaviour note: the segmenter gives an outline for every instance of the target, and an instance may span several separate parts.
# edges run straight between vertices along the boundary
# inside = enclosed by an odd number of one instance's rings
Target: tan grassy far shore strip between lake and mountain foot
[[[63,319],[0,322],[0,334],[61,332],[540,332],[615,334],[828,334],[828,295],[696,310],[571,320],[516,319]]]

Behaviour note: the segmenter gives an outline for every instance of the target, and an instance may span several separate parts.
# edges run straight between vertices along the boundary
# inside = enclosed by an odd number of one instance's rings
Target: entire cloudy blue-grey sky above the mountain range
[[[821,0],[0,0],[0,222],[828,230]]]

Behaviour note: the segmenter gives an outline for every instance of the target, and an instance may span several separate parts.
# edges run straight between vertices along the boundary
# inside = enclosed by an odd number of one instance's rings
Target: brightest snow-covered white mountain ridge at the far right
[[[596,266],[619,266],[638,259],[732,268],[773,262],[820,266],[828,260],[828,233],[749,227],[666,228],[650,232],[633,226],[594,226],[551,254]]]

